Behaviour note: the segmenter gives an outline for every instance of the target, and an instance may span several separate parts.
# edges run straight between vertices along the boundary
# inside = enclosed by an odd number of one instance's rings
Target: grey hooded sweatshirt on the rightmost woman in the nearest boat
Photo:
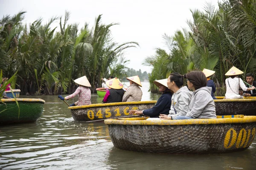
[[[212,88],[202,87],[193,92],[186,116],[197,119],[216,118],[215,104],[211,96]]]

